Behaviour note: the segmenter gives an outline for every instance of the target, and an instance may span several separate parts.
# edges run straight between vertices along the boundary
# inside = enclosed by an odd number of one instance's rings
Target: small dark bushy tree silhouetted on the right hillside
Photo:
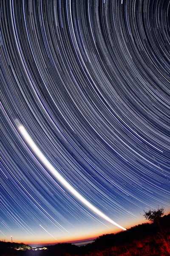
[[[157,223],[159,225],[159,220],[162,215],[164,215],[164,207],[156,208],[156,209],[150,209],[149,211],[144,211],[144,218],[148,221],[153,221],[154,223]]]

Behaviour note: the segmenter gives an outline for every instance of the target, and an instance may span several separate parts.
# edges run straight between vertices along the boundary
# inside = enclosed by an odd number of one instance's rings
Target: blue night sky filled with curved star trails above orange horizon
[[[57,175],[124,228],[170,212],[170,0],[0,0],[0,239],[122,230]]]

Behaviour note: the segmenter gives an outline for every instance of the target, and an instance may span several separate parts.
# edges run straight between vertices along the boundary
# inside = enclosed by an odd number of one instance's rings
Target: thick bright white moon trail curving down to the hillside
[[[29,136],[26,129],[23,127],[23,125],[19,126],[19,130],[21,134],[23,135],[24,139],[28,143],[28,145],[31,147],[31,149],[34,151],[34,153],[37,155],[37,157],[41,160],[41,162],[48,168],[48,170],[53,174],[57,180],[62,183],[62,185],[71,192],[72,195],[74,195],[79,201],[81,201],[85,206],[87,206],[89,209],[91,209],[93,212],[95,212],[99,217],[105,219],[106,221],[112,223],[113,225],[121,228],[122,230],[126,230],[124,227],[121,227],[119,224],[114,222],[111,218],[109,218],[107,215],[105,215],[103,212],[101,212],[99,209],[97,209],[93,204],[91,204],[88,200],[86,200],[79,192],[77,192],[76,189],[74,189],[73,186],[71,186],[65,178],[60,175],[60,173],[52,166],[52,164],[48,161],[48,159],[45,157],[45,155],[41,152],[40,148],[37,147],[37,145],[34,143],[32,138]]]

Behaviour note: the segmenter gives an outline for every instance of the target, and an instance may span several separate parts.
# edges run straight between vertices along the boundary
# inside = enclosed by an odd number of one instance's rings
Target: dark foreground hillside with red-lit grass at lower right
[[[17,250],[20,249],[20,250]],[[167,256],[170,255],[170,214],[159,225],[142,224],[117,234],[99,236],[92,244],[55,244],[32,250],[25,244],[0,241],[0,256]]]

